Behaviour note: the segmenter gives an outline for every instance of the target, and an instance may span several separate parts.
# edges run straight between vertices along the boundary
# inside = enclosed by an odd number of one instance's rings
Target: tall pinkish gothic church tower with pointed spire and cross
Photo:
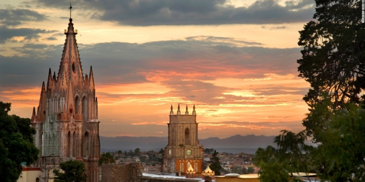
[[[39,106],[33,108],[32,127],[40,150],[40,182],[53,181],[59,163],[78,160],[85,164],[87,182],[99,181],[99,120],[92,67],[83,76],[70,6],[70,23],[57,75],[48,73],[42,84]]]

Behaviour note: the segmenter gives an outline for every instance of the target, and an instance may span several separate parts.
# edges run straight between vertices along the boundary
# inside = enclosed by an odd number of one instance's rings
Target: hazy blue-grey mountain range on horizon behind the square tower
[[[211,137],[206,139],[199,139],[200,145],[204,146],[204,149],[216,149],[219,152],[229,153],[255,153],[258,148],[266,148],[267,146],[275,146],[273,143],[275,136],[256,136],[256,135],[235,135],[228,138],[219,139],[218,137]],[[167,137],[130,137],[130,136],[117,136],[117,137],[104,137],[100,136],[100,148],[101,152],[106,151],[129,151],[130,149],[139,148],[141,151],[155,150],[159,151],[164,149],[167,145]]]

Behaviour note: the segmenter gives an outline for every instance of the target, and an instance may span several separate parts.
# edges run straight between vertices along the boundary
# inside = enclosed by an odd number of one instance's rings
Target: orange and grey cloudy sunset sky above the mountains
[[[58,72],[68,0],[1,0],[0,101],[31,117]],[[199,138],[304,129],[297,45],[314,0],[72,0],[83,73],[93,68],[101,136],[167,136],[171,104]]]

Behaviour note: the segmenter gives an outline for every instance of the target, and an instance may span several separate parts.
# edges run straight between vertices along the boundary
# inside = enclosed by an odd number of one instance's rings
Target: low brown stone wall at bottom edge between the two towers
[[[131,163],[128,165],[103,164],[101,166],[102,182],[199,182],[198,179],[180,179],[149,177],[142,175],[142,164]]]

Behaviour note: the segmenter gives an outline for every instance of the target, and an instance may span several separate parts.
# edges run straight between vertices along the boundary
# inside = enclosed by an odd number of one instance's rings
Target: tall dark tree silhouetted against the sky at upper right
[[[365,24],[361,0],[316,0],[317,21],[300,31],[299,76],[312,87],[303,98],[311,109],[329,93],[334,109],[359,103],[365,89]],[[307,127],[307,123],[304,125]],[[307,127],[308,128],[308,127]],[[313,128],[309,128],[313,130]]]

